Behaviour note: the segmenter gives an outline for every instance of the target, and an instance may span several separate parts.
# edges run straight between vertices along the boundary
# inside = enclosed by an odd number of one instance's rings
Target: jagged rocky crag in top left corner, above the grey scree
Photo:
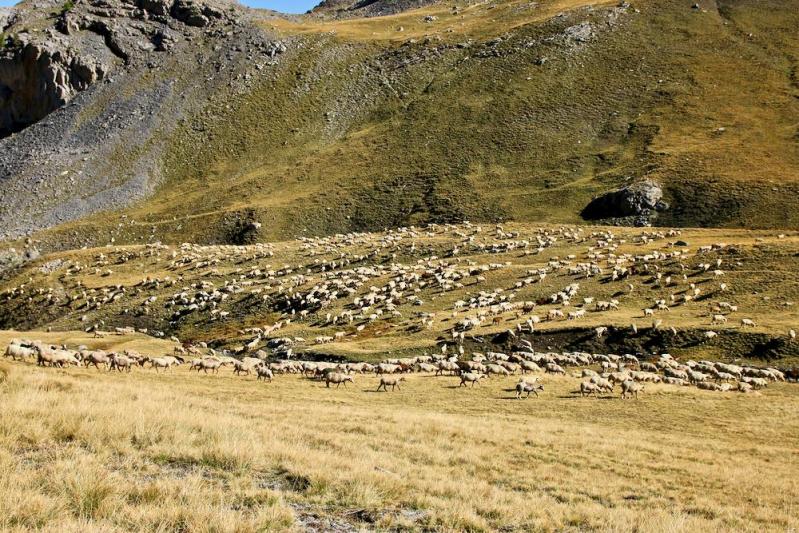
[[[0,27],[9,25],[0,46],[0,138],[38,122],[120,66],[146,64],[153,52],[185,39],[186,26],[237,22],[233,4],[214,0],[77,0],[69,9],[52,7],[55,21],[35,33],[27,26],[44,10],[14,17],[6,11],[0,18]]]

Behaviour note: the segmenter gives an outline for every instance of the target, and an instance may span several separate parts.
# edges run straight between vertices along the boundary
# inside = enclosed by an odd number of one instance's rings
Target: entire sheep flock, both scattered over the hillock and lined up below
[[[734,303],[736,291],[722,270],[740,269],[740,254],[725,243],[692,250],[680,236],[678,230],[620,236],[611,230],[589,233],[579,227],[537,228],[522,236],[502,226],[464,223],[307,238],[287,250],[271,244],[109,247],[95,253],[91,263],[50,261],[39,268],[52,283],[50,287],[36,286],[30,276],[6,288],[0,298],[11,304],[59,309],[66,323],[77,319],[96,336],[110,334],[103,331],[103,317],[128,323],[146,320],[174,330],[185,324],[202,330],[230,323],[240,318],[236,313],[242,308],[278,318],[238,330],[240,340],[224,340],[219,352],[199,343],[172,355],[149,357],[17,341],[6,353],[35,358],[41,365],[91,365],[128,372],[135,366],[160,372],[186,364],[206,374],[230,366],[237,375],[255,374],[268,381],[279,373],[302,373],[327,386],[346,386],[354,374],[374,372],[381,376],[380,390],[398,389],[401,378],[411,372],[457,375],[460,386],[475,386],[493,375],[524,374],[516,386],[517,397],[543,390],[535,373],[565,374],[568,366],[584,367],[580,394],[613,392],[619,387],[625,398],[637,397],[647,382],[748,392],[769,380],[784,379],[773,368],[680,363],[667,356],[638,361],[631,355],[533,350],[528,339],[545,324],[551,328],[559,321],[578,323],[591,318],[596,323],[598,319],[607,325],[593,328],[596,340],[607,336],[611,327],[635,337],[639,335],[635,320],[618,324],[622,311],[631,307],[640,310],[640,318],[652,321],[651,326],[640,328],[674,334],[675,326],[664,323],[674,308],[682,308],[683,316],[689,310],[706,317],[710,327],[729,328],[729,317],[737,314],[741,328],[756,328],[755,320],[742,315],[741,304]],[[583,252],[555,255],[553,250],[562,245]],[[276,252],[285,262],[273,264]],[[486,259],[493,256],[496,261]],[[527,258],[523,260],[536,266],[520,267],[513,258]],[[133,284],[111,281],[114,269],[145,264],[159,275],[147,274]],[[135,270],[139,268],[143,267]],[[87,286],[87,279],[92,286]],[[109,281],[102,286],[104,279]],[[641,301],[650,303],[641,308]],[[787,310],[793,302],[786,299],[782,305]],[[166,336],[157,329],[117,330]],[[307,336],[309,331],[319,334]],[[467,355],[471,351],[467,340],[502,333],[515,346],[511,353]],[[793,329],[787,333],[789,342],[796,337]],[[329,344],[397,334],[437,336],[434,342],[441,351],[378,365],[298,361],[305,353],[324,353]],[[712,330],[703,333],[705,342],[717,335]]]

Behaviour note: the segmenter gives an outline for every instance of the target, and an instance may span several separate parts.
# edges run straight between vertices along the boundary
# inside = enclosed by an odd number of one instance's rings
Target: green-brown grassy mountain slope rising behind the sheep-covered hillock
[[[285,51],[203,74],[213,90],[189,56],[174,59],[167,70],[191,90],[163,106],[151,141],[120,133],[80,148],[110,163],[84,170],[84,183],[113,176],[137,193],[84,202],[79,217],[115,210],[37,238],[250,242],[464,218],[578,222],[595,195],[644,178],[670,206],[656,224],[799,227],[798,7],[553,0],[345,20],[250,14],[253,42],[280,39]],[[192,59],[218,70],[215,37],[203,39],[209,55]],[[236,76],[246,84],[228,90]],[[110,89],[90,93],[53,116],[119,105]],[[0,142],[24,150],[37,127]],[[63,165],[47,166],[63,183]],[[11,236],[75,218],[59,206],[78,187],[33,216],[41,197],[7,185],[30,174],[2,180]]]

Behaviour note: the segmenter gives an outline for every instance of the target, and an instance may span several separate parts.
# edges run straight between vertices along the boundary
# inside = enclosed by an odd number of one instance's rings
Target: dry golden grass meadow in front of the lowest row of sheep
[[[5,364],[0,529],[786,531],[799,394],[650,385],[573,397],[545,378],[324,389],[254,378]]]

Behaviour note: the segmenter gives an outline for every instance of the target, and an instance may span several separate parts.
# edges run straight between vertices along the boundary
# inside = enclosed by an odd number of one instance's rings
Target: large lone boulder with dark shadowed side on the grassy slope
[[[580,215],[586,220],[601,220],[620,225],[648,225],[657,212],[668,209],[663,189],[643,180],[594,198]]]

